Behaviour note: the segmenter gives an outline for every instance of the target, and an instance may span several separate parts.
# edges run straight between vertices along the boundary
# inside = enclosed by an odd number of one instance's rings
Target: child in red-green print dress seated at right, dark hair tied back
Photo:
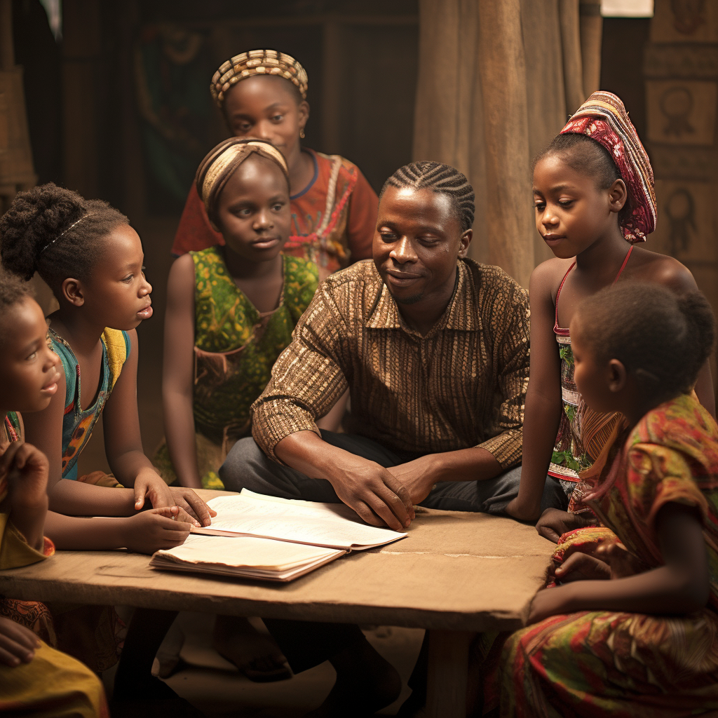
[[[564,585],[538,592],[533,625],[503,648],[501,714],[714,715],[718,426],[691,391],[714,342],[711,309],[698,292],[621,282],[584,299],[570,329],[578,391],[593,411],[620,411],[630,433],[589,472],[602,547],[569,558],[558,547]],[[594,529],[562,541],[582,531]]]

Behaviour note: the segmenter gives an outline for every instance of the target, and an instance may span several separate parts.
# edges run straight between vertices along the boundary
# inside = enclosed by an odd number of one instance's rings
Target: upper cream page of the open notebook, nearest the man
[[[208,505],[217,512],[212,525],[193,526],[192,533],[276,538],[345,551],[370,549],[406,538],[406,533],[362,523],[343,504],[278,499],[243,492],[238,496],[214,498]],[[347,512],[356,518],[349,518]]]

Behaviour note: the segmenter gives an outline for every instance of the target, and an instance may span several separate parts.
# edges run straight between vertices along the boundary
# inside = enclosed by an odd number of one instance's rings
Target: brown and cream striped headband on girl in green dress
[[[205,159],[200,162],[195,174],[195,185],[197,193],[202,202],[205,203],[207,215],[216,225],[215,213],[217,200],[229,178],[236,172],[237,167],[242,164],[251,154],[258,154],[260,157],[271,159],[279,164],[284,172],[286,182],[289,184],[289,170],[286,167],[284,155],[276,147],[264,139],[251,139],[230,137],[220,142],[215,149],[211,150]]]

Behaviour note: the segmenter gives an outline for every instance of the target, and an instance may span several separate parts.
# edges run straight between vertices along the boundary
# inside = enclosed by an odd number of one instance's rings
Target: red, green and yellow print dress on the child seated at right
[[[610,453],[606,447],[592,468],[597,491],[588,499],[603,527],[564,535],[555,558],[567,544],[595,541],[602,532],[646,571],[661,567],[658,511],[671,502],[694,506],[704,526],[709,604],[665,617],[555,615],[512,634],[500,668],[503,716],[678,718],[718,711],[718,426],[694,396],[680,396],[646,414],[614,462]]]

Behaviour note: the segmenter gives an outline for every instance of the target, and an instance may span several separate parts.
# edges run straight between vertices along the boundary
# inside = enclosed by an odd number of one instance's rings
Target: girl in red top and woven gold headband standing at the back
[[[292,226],[284,253],[313,261],[320,279],[370,258],[376,192],[348,159],[300,143],[309,118],[304,67],[284,52],[250,50],[220,66],[210,92],[234,136],[270,141],[286,157]],[[192,187],[172,253],[180,256],[223,242]]]

